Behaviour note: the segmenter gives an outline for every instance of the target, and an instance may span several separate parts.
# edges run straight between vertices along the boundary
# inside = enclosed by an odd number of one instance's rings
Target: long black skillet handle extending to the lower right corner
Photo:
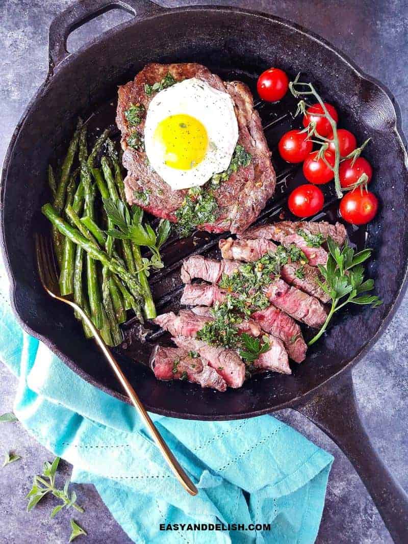
[[[333,390],[334,388],[334,390]],[[294,406],[343,450],[367,487],[395,544],[408,541],[408,495],[393,478],[367,436],[358,416],[351,371]]]

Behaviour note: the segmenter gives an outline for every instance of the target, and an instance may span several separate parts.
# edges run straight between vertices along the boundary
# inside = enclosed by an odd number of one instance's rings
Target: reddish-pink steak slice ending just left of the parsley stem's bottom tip
[[[261,325],[265,332],[269,332],[282,340],[289,357],[296,363],[305,360],[307,345],[300,326],[292,317],[273,305],[266,310],[253,313],[251,317]]]

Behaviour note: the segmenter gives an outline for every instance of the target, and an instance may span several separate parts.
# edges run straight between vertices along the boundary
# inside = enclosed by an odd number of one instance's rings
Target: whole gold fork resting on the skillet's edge
[[[46,292],[54,299],[65,302],[65,304],[68,304],[79,314],[81,314],[81,317],[84,319],[86,325],[88,325],[90,330],[92,331],[95,342],[97,343],[98,347],[100,348],[106,360],[112,367],[114,373],[116,374],[116,378],[118,378],[118,380],[120,381],[123,389],[126,391],[129,398],[131,399],[133,406],[139,412],[139,415],[144,420],[147,428],[150,430],[153,440],[154,442],[156,442],[160,452],[162,452],[164,459],[168,462],[168,465],[170,466],[171,470],[174,472],[184,489],[188,491],[190,495],[196,495],[198,493],[197,488],[190,480],[188,475],[184,472],[183,468],[180,466],[175,456],[171,453],[167,444],[164,442],[162,436],[152,422],[149,414],[146,412],[145,407],[141,403],[138,395],[135,393],[131,384],[129,384],[129,381],[127,380],[125,374],[123,374],[118,362],[115,360],[112,353],[110,353],[107,345],[104,343],[95,325],[92,323],[88,315],[82,310],[81,307],[73,302],[68,296],[61,296],[58,285],[57,269],[55,267],[55,261],[50,241],[46,240],[44,236],[36,234],[35,251],[42,286],[44,287]]]

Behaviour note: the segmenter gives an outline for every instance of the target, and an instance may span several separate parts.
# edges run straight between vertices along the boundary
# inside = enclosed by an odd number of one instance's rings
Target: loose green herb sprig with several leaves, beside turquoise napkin
[[[63,508],[69,508],[70,506],[78,510],[78,512],[84,512],[82,506],[79,506],[79,504],[76,503],[77,495],[75,491],[72,491],[71,496],[69,495],[69,480],[65,482],[64,489],[58,489],[55,485],[55,473],[57,472],[59,461],[59,457],[56,457],[52,463],[46,461],[42,474],[40,476],[34,476],[33,487],[26,496],[26,498],[29,499],[27,512],[32,510],[47,493],[52,493],[54,497],[57,497],[57,499],[62,501],[62,504],[55,506],[51,512],[51,517],[57,515]]]

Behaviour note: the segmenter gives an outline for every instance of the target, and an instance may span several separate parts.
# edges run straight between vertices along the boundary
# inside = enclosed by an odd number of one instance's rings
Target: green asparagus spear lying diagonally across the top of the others
[[[41,211],[45,215],[45,217],[50,220],[56,228],[58,228],[61,234],[63,234],[67,238],[70,238],[75,244],[80,245],[84,249],[84,251],[86,251],[92,257],[92,259],[101,261],[101,263],[103,265],[106,265],[110,271],[112,271],[114,274],[118,274],[118,276],[125,282],[125,284],[129,288],[135,301],[140,301],[141,289],[139,283],[135,280],[134,276],[132,276],[132,274],[130,274],[122,266],[118,259],[115,259],[114,257],[109,258],[106,252],[99,248],[96,241],[91,242],[88,238],[85,238],[85,236],[83,236],[83,234],[79,232],[77,228],[72,227],[66,221],[64,221],[64,219],[58,215],[58,213],[55,211],[50,203],[42,206]],[[78,221],[81,222],[79,218]],[[143,321],[140,307],[138,312],[136,313],[138,318]]]

